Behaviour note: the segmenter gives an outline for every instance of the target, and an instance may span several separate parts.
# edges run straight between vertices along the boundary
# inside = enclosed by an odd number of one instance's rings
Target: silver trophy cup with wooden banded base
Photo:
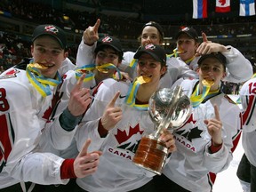
[[[164,128],[171,132],[179,129],[188,120],[192,108],[188,96],[182,94],[180,86],[157,90],[150,97],[148,106],[148,113],[156,131],[141,138],[132,162],[160,175],[168,155],[168,148],[159,137]]]

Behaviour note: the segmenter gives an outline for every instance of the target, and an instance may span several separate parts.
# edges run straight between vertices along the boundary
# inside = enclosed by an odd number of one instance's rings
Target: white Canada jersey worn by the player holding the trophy
[[[130,191],[148,183],[155,175],[132,164],[132,158],[138,148],[141,136],[154,131],[154,124],[148,116],[148,110],[132,108],[124,103],[129,86],[124,82],[106,79],[100,84],[97,94],[84,116],[76,132],[77,148],[81,150],[88,138],[92,143],[88,152],[102,150],[97,172],[77,179],[77,184],[90,192],[120,192]],[[100,138],[98,124],[108,102],[117,91],[120,96],[116,106],[123,111],[122,120],[108,132],[105,138]]]

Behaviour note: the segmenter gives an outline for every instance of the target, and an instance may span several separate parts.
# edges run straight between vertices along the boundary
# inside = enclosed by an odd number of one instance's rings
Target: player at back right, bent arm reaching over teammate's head
[[[197,61],[202,54],[211,52],[221,52],[227,59],[227,76],[224,81],[233,83],[244,83],[252,76],[252,66],[249,60],[244,58],[244,55],[233,46],[224,46],[217,44],[207,39],[207,36],[202,33],[203,42],[200,44],[196,29],[181,28],[175,36],[178,59],[187,63],[192,70],[198,68]]]

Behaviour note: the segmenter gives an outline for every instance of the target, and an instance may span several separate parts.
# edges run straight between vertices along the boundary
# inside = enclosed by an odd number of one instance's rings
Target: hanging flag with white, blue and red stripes
[[[207,0],[193,0],[193,19],[207,18]]]

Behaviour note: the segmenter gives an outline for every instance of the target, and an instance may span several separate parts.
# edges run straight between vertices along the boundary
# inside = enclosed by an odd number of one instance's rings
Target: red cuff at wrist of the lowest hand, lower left
[[[65,159],[60,166],[60,178],[61,180],[76,178],[74,172],[75,159]]]

